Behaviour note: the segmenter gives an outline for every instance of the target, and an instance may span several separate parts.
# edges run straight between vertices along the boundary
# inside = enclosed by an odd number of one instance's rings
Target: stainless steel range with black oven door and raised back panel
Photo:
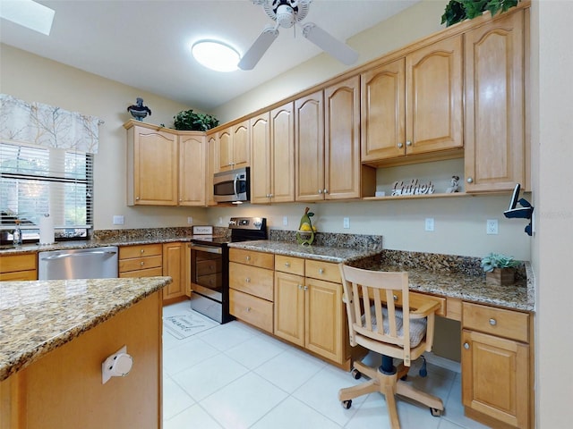
[[[230,242],[267,240],[264,217],[232,217],[230,237],[204,236],[191,244],[191,307],[219,324],[234,319],[229,315]]]

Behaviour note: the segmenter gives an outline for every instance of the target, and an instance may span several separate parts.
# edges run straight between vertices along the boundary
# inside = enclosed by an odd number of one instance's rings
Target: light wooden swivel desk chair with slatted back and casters
[[[395,395],[416,400],[428,407],[433,416],[444,409],[440,398],[405,383],[410,363],[424,351],[432,349],[434,315],[440,304],[432,301],[411,311],[408,299],[408,273],[368,271],[340,265],[344,300],[348,315],[350,345],[357,344],[382,355],[378,368],[355,361],[356,379],[365,374],[370,381],[338,391],[338,400],[350,408],[352,399],[380,391],[386,397],[392,429],[399,429]],[[395,306],[397,292],[402,294],[402,307]],[[393,365],[393,357],[402,359]]]

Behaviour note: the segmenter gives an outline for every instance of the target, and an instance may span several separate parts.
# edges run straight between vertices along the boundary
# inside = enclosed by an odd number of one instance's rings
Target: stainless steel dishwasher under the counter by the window
[[[38,280],[117,277],[117,248],[77,248],[38,253]]]

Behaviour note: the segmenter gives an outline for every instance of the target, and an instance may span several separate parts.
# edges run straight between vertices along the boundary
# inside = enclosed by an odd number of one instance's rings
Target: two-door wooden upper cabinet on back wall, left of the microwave
[[[129,121],[127,204],[205,206],[205,133]]]

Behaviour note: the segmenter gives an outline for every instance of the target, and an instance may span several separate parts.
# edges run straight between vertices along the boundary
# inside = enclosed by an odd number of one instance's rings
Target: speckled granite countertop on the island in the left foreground
[[[0,381],[170,282],[171,277],[0,282]]]

